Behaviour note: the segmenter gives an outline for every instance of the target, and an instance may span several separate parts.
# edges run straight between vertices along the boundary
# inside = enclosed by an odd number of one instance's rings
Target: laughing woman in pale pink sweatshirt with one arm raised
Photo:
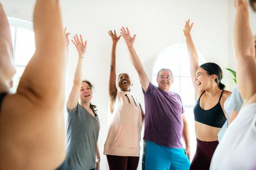
[[[140,155],[140,132],[144,112],[137,98],[130,90],[132,80],[126,73],[118,76],[116,87],[116,45],[121,36],[109,31],[112,38],[112,57],[109,81],[111,118],[104,154],[110,170],[137,169]]]

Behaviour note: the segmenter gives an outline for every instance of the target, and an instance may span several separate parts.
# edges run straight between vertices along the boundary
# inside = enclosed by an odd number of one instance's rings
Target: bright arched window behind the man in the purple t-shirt
[[[199,54],[199,64],[206,61]],[[161,68],[169,68],[173,72],[174,83],[170,87],[171,91],[181,95],[181,100],[185,110],[185,116],[188,122],[190,137],[190,152],[193,158],[196,151],[196,134],[193,107],[195,104],[195,89],[191,82],[190,64],[186,44],[170,45],[158,55],[153,68],[152,83],[157,86],[157,73]]]

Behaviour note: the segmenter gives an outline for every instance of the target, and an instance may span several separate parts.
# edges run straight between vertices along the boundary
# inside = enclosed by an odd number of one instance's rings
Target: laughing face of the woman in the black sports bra
[[[197,87],[199,90],[204,91],[208,87],[212,85],[212,83],[215,83],[215,79],[217,78],[216,75],[209,75],[206,70],[204,70],[202,67],[198,67],[195,77],[195,82],[197,84]]]

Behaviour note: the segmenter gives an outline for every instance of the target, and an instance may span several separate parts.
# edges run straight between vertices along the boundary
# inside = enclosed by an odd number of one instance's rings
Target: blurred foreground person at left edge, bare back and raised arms
[[[58,0],[37,0],[36,52],[15,94],[10,26],[0,3],[0,169],[66,169],[66,42]]]

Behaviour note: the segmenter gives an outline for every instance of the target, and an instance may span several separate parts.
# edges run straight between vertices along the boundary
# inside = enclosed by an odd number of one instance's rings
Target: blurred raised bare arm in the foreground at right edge
[[[237,82],[244,105],[256,102],[256,58],[254,40],[250,29],[248,4],[245,0],[234,1],[237,14],[234,23],[234,51],[237,58]]]

